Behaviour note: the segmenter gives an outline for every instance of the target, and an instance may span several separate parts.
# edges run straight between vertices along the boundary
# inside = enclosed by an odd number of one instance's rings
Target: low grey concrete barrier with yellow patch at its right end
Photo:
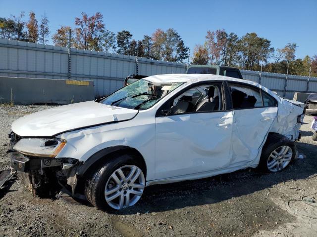
[[[94,99],[92,80],[0,77],[0,103],[65,105]]]

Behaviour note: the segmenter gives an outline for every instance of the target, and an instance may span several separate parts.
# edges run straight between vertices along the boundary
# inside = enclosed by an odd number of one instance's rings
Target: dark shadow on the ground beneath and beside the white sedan
[[[296,159],[278,173],[263,173],[257,169],[239,170],[211,178],[153,185],[146,188],[141,200],[128,209],[112,214],[161,212],[189,206],[212,204],[233,197],[249,195],[284,181],[305,179],[317,173],[317,146],[296,143],[307,158]]]

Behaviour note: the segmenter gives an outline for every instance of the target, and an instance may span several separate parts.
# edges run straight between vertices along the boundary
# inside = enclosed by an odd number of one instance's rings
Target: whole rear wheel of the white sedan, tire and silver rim
[[[259,168],[268,172],[284,169],[296,155],[294,142],[280,134],[269,134],[262,149]]]

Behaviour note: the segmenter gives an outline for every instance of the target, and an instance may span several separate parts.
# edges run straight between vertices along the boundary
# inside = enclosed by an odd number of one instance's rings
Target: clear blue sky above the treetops
[[[100,11],[107,29],[128,30],[136,40],[171,27],[192,50],[207,30],[225,29],[239,37],[256,32],[274,48],[295,42],[299,58],[317,54],[317,0],[0,0],[0,5],[2,17],[23,10],[26,20],[32,10],[40,19],[45,12],[52,33],[73,26],[81,11]]]

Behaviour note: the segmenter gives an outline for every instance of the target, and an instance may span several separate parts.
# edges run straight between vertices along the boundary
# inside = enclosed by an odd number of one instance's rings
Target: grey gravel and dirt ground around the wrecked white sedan
[[[10,124],[47,108],[0,106],[0,169],[9,167]],[[317,192],[317,142],[312,117],[304,121],[303,138],[296,144],[306,158],[280,173],[247,169],[150,186],[134,207],[111,214],[88,203],[32,197],[19,180],[11,182],[0,190],[0,236],[316,237],[317,220],[306,217],[317,217],[316,202],[290,201]]]

